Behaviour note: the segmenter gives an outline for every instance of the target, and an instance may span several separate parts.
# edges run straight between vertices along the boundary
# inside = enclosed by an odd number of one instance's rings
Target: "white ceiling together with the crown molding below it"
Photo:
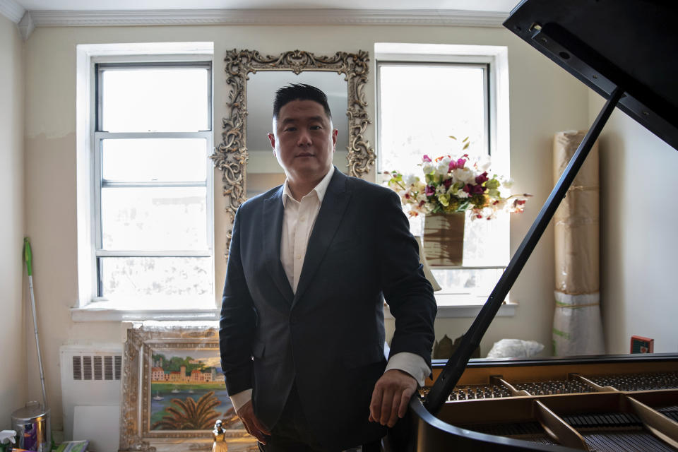
[[[500,27],[520,0],[0,0],[36,27],[105,25],[465,25]]]

